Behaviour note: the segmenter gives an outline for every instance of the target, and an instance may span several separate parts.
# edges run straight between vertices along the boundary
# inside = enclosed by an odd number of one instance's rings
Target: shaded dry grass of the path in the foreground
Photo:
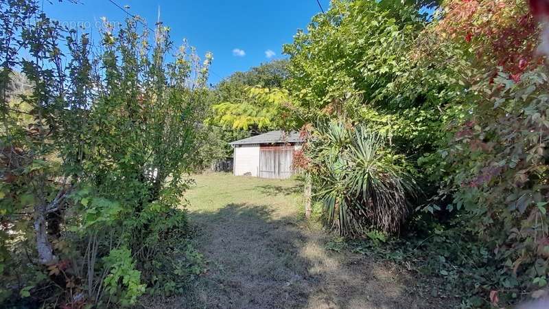
[[[184,297],[152,308],[439,308],[406,293],[403,276],[362,255],[325,249],[326,236],[268,205],[195,212],[208,271]]]

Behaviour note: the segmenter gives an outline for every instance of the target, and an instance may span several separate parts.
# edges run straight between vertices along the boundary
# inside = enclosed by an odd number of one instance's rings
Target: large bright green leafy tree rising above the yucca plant
[[[413,5],[333,1],[326,14],[314,16],[307,32],[299,31],[284,46],[290,55],[285,85],[296,126],[340,119],[386,136],[412,163],[433,152],[443,127],[441,100],[431,100],[438,95],[431,87],[435,82],[424,86],[404,77],[412,76],[410,50],[426,24]],[[415,176],[431,196],[436,187],[425,181],[427,169],[422,166]]]

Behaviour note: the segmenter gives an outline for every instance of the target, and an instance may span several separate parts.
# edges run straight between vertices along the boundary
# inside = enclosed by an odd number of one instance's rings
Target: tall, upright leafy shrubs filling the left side
[[[167,240],[185,237],[178,207],[211,55],[202,62],[183,45],[168,61],[168,28],[151,41],[128,19],[118,32],[105,23],[92,56],[88,35],[62,29],[37,1],[0,8],[0,301],[132,306],[180,267],[159,261],[178,246]],[[31,85],[18,95],[15,69]]]

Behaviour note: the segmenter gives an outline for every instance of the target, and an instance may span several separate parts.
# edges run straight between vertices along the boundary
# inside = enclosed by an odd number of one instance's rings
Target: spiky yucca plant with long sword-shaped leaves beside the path
[[[327,225],[342,236],[398,233],[410,214],[408,199],[417,193],[404,158],[364,126],[331,122],[315,135],[307,149]]]

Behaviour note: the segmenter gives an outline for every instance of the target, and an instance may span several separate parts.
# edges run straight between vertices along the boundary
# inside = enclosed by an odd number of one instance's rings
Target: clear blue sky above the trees
[[[316,0],[113,0],[129,5],[132,14],[143,16],[154,27],[160,5],[161,20],[170,27],[172,41],[187,38],[200,56],[213,52],[210,82],[235,71],[246,71],[261,62],[283,58],[281,47],[291,43],[298,28],[305,28],[320,12]],[[84,25],[92,30],[102,16],[124,21],[126,14],[108,0],[79,0],[80,3],[47,3],[44,11],[65,25]],[[329,0],[320,0],[324,10]],[[94,39],[97,32],[92,31]],[[269,57],[268,57],[269,56]]]

